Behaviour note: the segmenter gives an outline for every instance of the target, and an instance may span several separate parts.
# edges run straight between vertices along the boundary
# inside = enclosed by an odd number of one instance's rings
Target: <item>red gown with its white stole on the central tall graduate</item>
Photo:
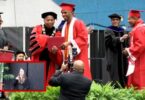
[[[66,31],[68,31],[68,34],[66,34]],[[65,22],[61,36],[67,37],[67,41],[77,48],[78,55],[75,57],[75,60],[84,62],[84,76],[92,79],[88,61],[88,31],[85,24],[81,20],[73,18],[69,25]]]

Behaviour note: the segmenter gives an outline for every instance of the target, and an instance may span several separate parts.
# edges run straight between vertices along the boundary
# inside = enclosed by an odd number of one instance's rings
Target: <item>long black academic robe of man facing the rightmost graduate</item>
[[[127,57],[122,54],[122,50],[128,46],[128,41],[121,42],[120,37],[127,32],[121,27],[110,26],[105,31],[105,48],[107,71],[113,84],[118,87],[119,82],[122,87],[126,84]]]

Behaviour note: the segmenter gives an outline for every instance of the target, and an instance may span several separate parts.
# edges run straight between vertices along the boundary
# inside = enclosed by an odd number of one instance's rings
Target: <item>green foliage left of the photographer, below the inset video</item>
[[[47,87],[46,92],[16,92],[10,94],[10,100],[58,100],[59,87]]]

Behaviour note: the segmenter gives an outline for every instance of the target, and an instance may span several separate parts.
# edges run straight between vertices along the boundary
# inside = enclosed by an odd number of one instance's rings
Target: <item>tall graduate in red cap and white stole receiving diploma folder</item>
[[[62,17],[65,23],[62,27],[61,36],[65,37],[63,47],[65,48],[63,57],[68,58],[69,46],[77,49],[75,60],[82,60],[85,64],[84,76],[91,79],[89,61],[88,61],[88,31],[85,24],[74,17],[74,4],[62,3]]]

